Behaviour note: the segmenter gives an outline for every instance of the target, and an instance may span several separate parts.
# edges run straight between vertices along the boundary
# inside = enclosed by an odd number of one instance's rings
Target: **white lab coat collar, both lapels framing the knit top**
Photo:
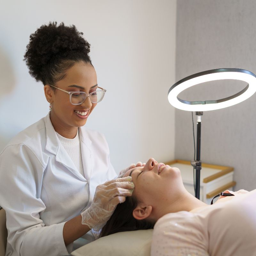
[[[48,115],[45,117],[45,128],[46,128],[46,145],[45,149],[49,151],[50,153],[54,154],[55,160],[59,162],[60,164],[66,166],[69,171],[71,171],[73,174],[75,174],[80,180],[86,179],[88,182],[88,177],[90,177],[90,173],[92,172],[92,150],[90,148],[92,141],[84,134],[84,129],[81,129],[79,127],[79,136],[80,136],[80,143],[81,143],[81,153],[82,153],[82,162],[84,170],[86,170],[87,173],[84,173],[84,176],[78,172],[74,162],[66,152],[65,148],[61,145],[60,140],[52,126],[52,122],[50,119],[50,113],[49,111]],[[86,161],[84,159],[86,157]]]

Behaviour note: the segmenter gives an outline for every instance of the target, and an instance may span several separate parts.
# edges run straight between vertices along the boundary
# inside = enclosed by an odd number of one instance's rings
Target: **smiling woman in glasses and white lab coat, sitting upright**
[[[30,35],[24,60],[43,83],[50,111],[0,153],[6,256],[68,255],[76,239],[99,230],[132,195],[131,177],[113,180],[104,136],[84,127],[106,90],[82,35],[57,22]]]

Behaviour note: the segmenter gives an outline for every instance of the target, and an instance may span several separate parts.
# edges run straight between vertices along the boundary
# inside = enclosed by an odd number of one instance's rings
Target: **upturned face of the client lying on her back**
[[[166,204],[172,204],[179,198],[184,186],[180,170],[150,158],[145,166],[135,167],[124,174],[131,176],[135,185],[133,196],[145,205],[151,205],[152,211],[161,210]],[[155,210],[156,211],[156,210]]]

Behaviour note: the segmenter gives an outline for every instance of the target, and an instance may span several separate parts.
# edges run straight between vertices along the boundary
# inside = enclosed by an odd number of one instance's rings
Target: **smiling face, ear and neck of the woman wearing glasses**
[[[68,92],[90,93],[97,89],[97,75],[90,63],[78,62],[69,68],[65,75],[54,86]],[[53,90],[49,85],[44,87],[45,97],[52,104],[50,118],[55,131],[63,137],[74,138],[77,127],[86,123],[97,103],[92,103],[90,97],[87,97],[82,104],[72,105],[68,93]]]

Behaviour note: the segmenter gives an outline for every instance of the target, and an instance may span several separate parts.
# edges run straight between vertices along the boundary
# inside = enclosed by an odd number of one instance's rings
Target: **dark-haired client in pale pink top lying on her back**
[[[133,194],[117,205],[101,236],[156,223],[151,255],[256,256],[256,189],[225,191],[235,196],[208,205],[188,193],[178,168],[154,158],[126,176]]]

